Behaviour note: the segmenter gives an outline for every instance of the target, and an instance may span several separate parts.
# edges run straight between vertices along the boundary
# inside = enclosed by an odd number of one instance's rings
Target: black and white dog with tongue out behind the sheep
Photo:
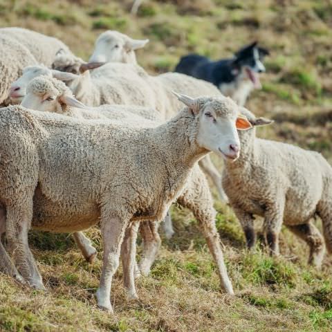
[[[175,71],[213,83],[223,95],[243,106],[253,89],[261,89],[259,73],[265,71],[262,61],[268,54],[266,48],[253,42],[238,50],[231,59],[211,61],[197,54],[186,55],[181,57]]]

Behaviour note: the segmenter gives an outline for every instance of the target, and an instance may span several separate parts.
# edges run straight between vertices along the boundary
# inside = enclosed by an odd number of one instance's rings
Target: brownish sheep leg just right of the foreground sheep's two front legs
[[[149,275],[151,266],[154,264],[156,255],[161,246],[157,222],[144,221],[140,225],[140,234],[143,240],[142,259],[140,260],[140,272]]]

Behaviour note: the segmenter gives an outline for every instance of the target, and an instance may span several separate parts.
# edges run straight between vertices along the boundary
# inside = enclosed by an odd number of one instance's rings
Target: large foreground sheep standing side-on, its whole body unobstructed
[[[232,100],[178,98],[186,105],[182,111],[143,129],[17,106],[1,110],[0,202],[17,266],[6,266],[7,273],[44,289],[28,248],[29,228],[79,232],[100,221],[104,263],[96,296],[98,306],[112,311],[111,281],[129,225],[162,220],[205,154],[239,157],[239,110]],[[6,264],[1,246],[0,255]],[[133,260],[127,257],[129,266]]]

